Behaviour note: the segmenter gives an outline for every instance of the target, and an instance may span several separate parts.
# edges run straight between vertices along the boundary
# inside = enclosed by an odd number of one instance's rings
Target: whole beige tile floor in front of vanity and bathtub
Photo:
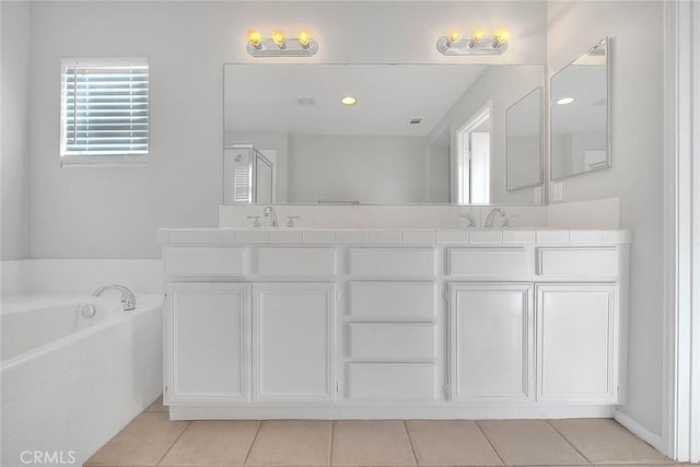
[[[161,399],[85,466],[658,466],[609,419],[168,421]]]

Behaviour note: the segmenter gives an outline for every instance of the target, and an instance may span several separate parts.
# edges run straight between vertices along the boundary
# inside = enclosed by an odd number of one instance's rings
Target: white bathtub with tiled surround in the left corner
[[[162,297],[2,297],[3,467],[82,465],[162,388]]]

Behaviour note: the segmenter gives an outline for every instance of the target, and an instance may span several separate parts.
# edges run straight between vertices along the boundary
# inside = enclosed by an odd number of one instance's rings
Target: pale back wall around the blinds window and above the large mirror
[[[222,65],[256,60],[249,27],[310,27],[320,50],[289,61],[464,62],[435,50],[455,25],[512,32],[508,54],[469,62],[545,62],[545,2],[34,2],[30,256],[158,258],[158,227],[217,225]],[[148,167],[59,167],[60,59],[71,56],[149,57]]]

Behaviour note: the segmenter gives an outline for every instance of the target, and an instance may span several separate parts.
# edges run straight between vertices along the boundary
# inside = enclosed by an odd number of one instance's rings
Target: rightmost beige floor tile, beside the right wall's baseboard
[[[551,420],[550,423],[593,464],[672,463],[612,419]]]

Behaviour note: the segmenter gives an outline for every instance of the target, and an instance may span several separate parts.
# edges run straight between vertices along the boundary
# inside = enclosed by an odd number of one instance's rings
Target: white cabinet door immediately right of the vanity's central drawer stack
[[[452,284],[450,295],[453,400],[530,400],[533,285]]]

